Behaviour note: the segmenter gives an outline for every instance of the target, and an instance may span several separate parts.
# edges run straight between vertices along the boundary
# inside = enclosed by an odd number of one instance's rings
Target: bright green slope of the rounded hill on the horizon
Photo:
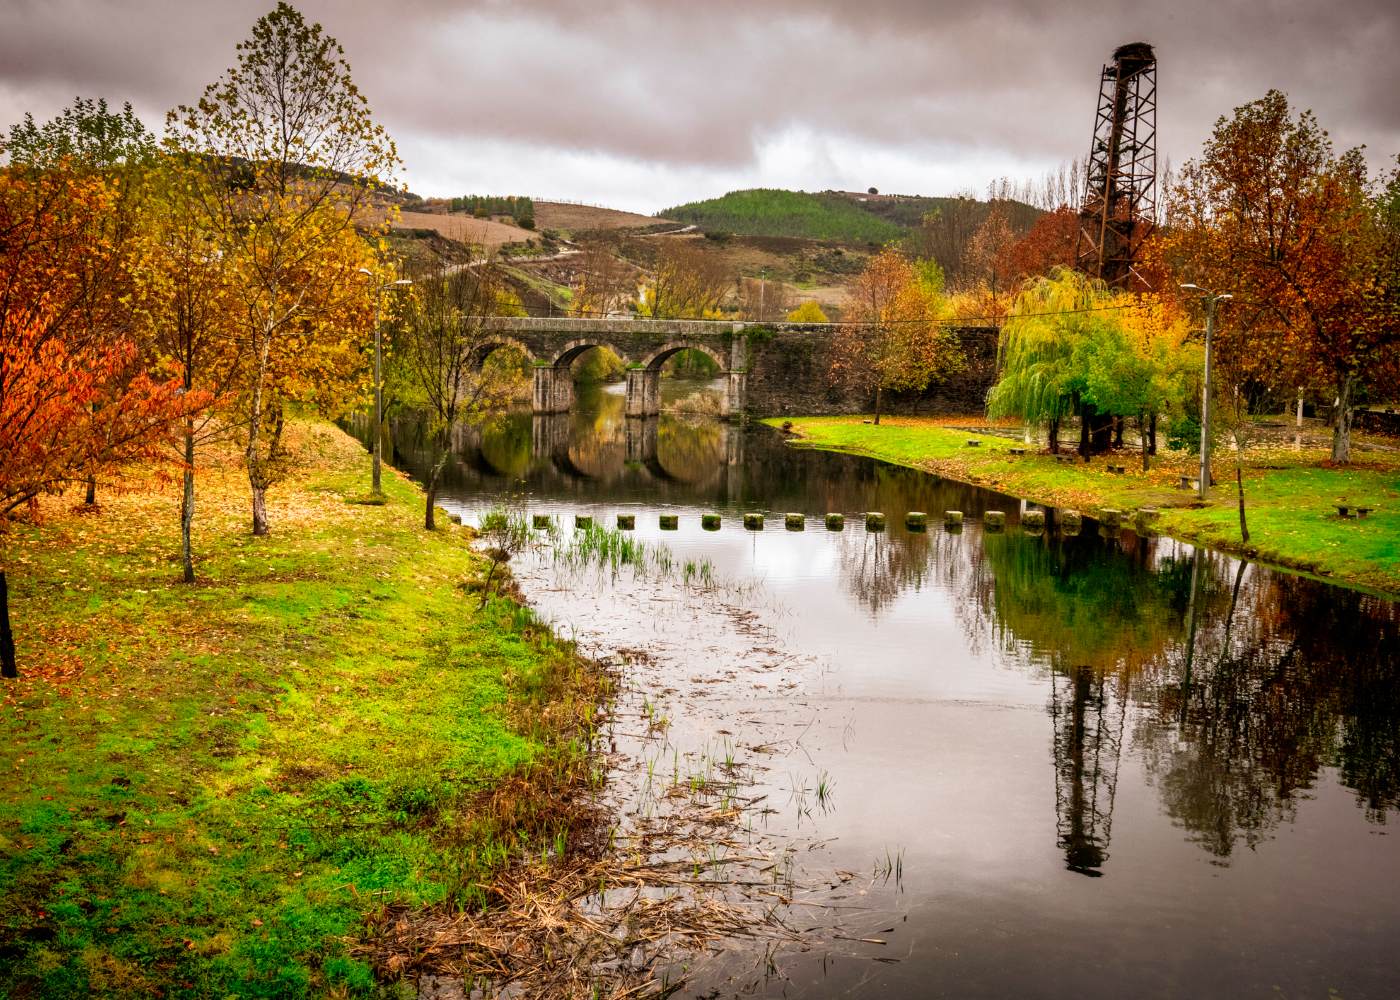
[[[680,204],[661,214],[706,230],[753,237],[882,244],[906,235],[903,227],[872,216],[840,195],[771,188],[731,190],[722,197]]]

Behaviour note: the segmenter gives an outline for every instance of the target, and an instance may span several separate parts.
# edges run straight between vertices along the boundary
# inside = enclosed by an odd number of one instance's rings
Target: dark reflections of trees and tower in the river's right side
[[[1046,671],[1071,870],[1107,860],[1130,748],[1221,863],[1289,822],[1329,769],[1366,819],[1400,810],[1393,602],[1130,532],[869,536],[843,546],[841,571],[874,613],[937,583],[970,643]]]

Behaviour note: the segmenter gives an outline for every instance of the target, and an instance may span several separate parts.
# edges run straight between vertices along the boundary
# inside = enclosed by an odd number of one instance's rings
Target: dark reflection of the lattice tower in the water
[[[1103,671],[1071,667],[1050,675],[1056,831],[1065,867],[1081,875],[1102,875],[1109,857],[1126,714]]]

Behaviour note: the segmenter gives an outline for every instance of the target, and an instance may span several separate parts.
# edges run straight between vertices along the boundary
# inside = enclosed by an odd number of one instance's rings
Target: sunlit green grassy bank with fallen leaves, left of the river
[[[363,917],[472,902],[519,818],[484,790],[577,763],[539,724],[592,703],[564,711],[571,653],[508,601],[475,611],[480,560],[419,528],[412,483],[347,504],[364,452],[298,433],[316,458],[274,489],[269,538],[235,468],[203,473],[195,587],[172,485],[55,503],[11,539],[0,993],[372,990]]]

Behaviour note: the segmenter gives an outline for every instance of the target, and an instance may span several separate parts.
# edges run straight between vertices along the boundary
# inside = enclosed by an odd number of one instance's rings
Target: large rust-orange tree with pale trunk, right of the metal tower
[[[1396,350],[1378,270],[1383,230],[1359,150],[1337,154],[1309,111],[1270,91],[1221,118],[1170,192],[1161,252],[1182,282],[1235,296],[1219,329],[1236,385],[1326,385],[1333,461],[1351,455],[1359,387]]]

